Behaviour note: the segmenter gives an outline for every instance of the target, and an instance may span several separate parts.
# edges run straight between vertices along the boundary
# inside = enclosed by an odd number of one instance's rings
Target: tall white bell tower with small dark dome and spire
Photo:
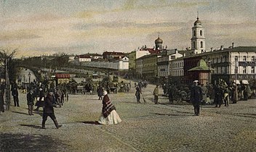
[[[194,22],[192,28],[191,51],[193,54],[201,54],[205,52],[204,28],[201,25],[198,14],[197,20]]]

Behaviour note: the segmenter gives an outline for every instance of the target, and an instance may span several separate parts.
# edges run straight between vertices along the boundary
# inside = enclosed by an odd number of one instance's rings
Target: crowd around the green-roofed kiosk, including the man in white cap
[[[252,98],[255,91],[247,83],[226,83],[223,79],[219,79],[215,85],[208,83],[204,85],[200,84],[199,80],[194,80],[191,87],[188,87],[188,85],[177,86],[169,84],[163,85],[163,89],[164,94],[167,94],[169,97],[170,104],[177,100],[180,92],[185,91],[186,96],[189,95],[189,101],[194,106],[196,116],[199,115],[200,105],[214,104],[215,107],[219,108],[223,104],[224,106],[229,106],[230,102],[236,104],[238,101],[247,101],[249,98]],[[155,101],[157,100],[155,99]]]

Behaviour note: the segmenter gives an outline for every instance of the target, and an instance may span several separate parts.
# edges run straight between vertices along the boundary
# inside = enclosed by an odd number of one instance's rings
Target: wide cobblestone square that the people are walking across
[[[167,97],[153,104],[154,87],[143,89],[145,104],[136,103],[133,84],[129,93],[111,93],[122,119],[113,125],[94,123],[102,107],[97,95],[70,95],[55,109],[58,130],[49,118],[42,130],[42,109],[29,116],[20,92],[21,106],[0,114],[0,151],[256,151],[255,99],[203,106],[195,117],[193,106],[170,105]]]

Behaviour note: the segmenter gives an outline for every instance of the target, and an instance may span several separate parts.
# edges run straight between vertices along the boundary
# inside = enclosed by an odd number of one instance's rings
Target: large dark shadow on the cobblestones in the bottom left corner
[[[0,134],[1,151],[60,151],[66,147],[47,135]]]

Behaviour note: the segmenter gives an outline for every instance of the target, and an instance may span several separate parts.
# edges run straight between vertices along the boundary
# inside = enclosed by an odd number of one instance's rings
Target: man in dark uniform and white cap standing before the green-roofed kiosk
[[[201,87],[199,86],[199,81],[193,81],[193,87],[191,88],[191,102],[193,104],[194,115],[199,116],[200,114],[200,103],[203,98],[203,93]]]

